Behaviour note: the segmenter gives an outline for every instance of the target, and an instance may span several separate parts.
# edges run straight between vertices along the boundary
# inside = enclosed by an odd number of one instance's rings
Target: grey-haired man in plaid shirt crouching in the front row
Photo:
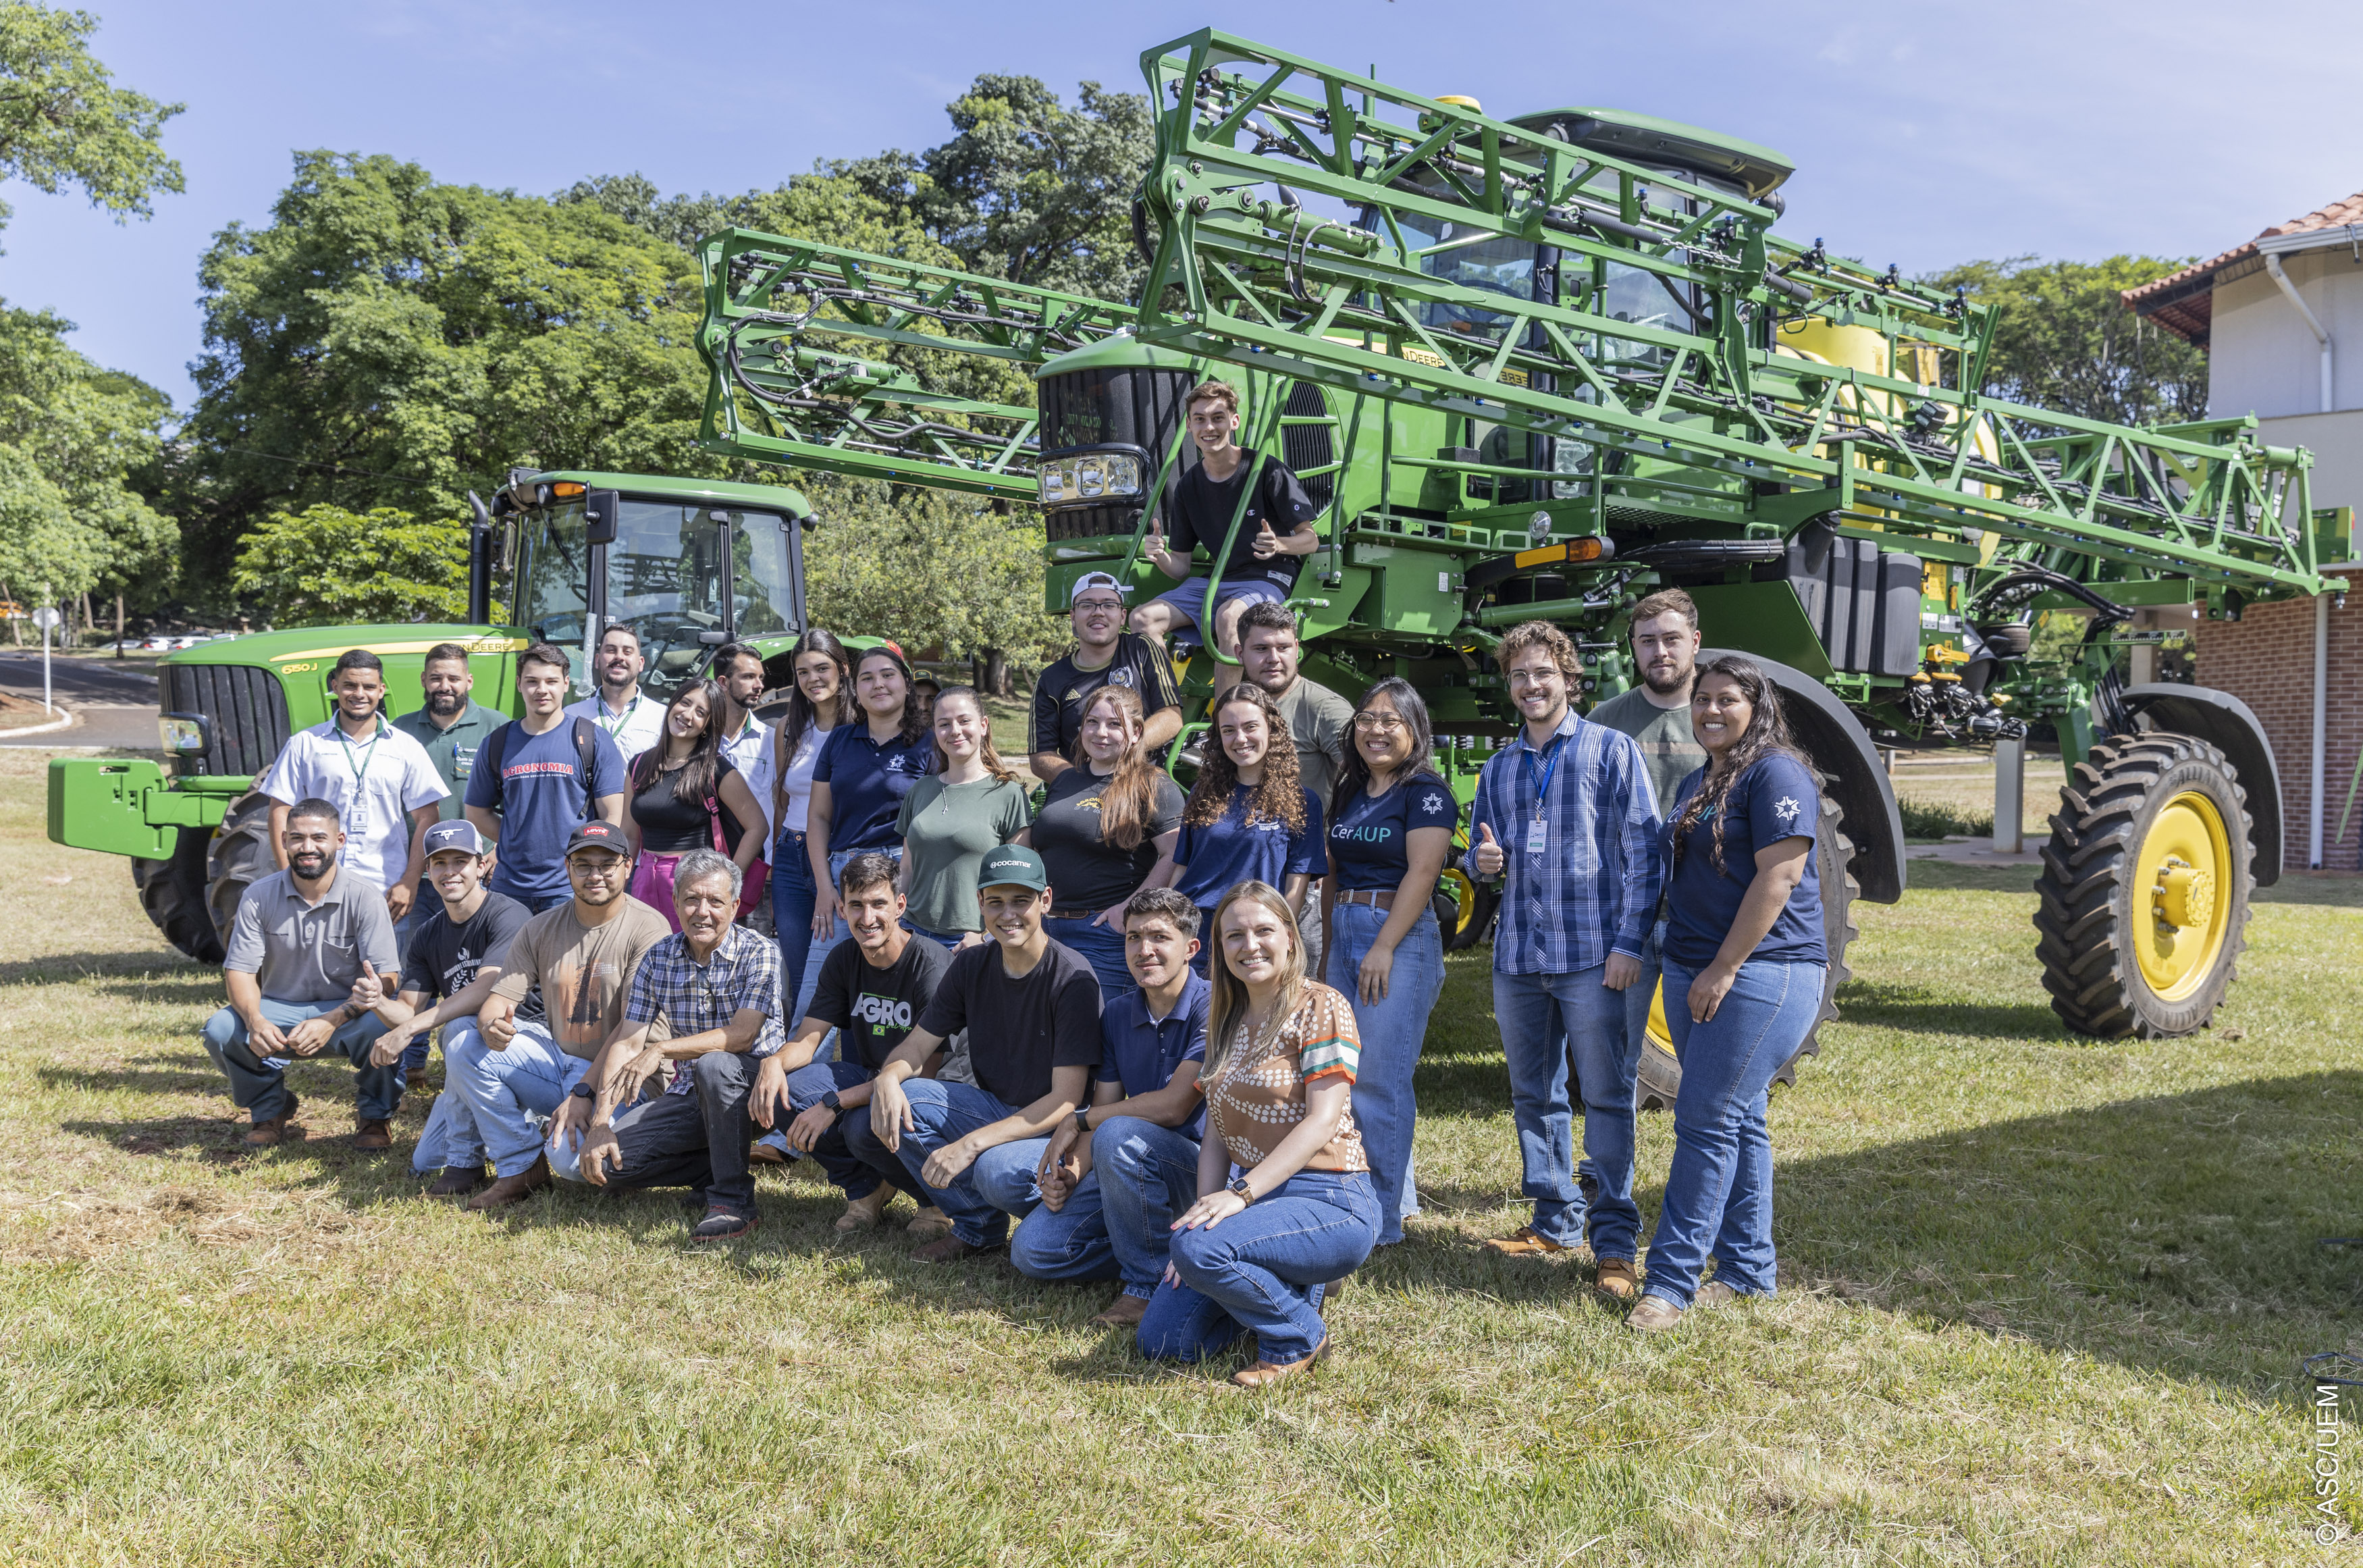
[[[640,960],[621,1029],[591,1064],[584,1088],[551,1119],[558,1175],[610,1190],[704,1192],[704,1218],[690,1232],[695,1242],[730,1242],[756,1225],[747,1095],[756,1062],[787,1038],[780,948],[733,925],[737,901],[740,870],[728,856],[711,849],[681,856],[673,870],[681,932]],[[664,1093],[640,1100],[640,1088],[666,1062],[673,1076]],[[595,1095],[586,1095],[593,1083]]]

